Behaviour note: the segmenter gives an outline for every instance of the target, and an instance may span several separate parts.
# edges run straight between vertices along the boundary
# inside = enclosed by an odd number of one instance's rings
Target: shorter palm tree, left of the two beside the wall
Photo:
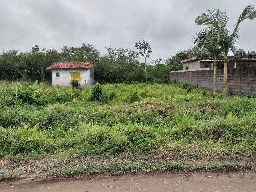
[[[217,70],[217,58],[222,52],[222,48],[218,44],[217,30],[213,27],[208,27],[194,36],[194,44],[198,47],[202,47],[209,55],[214,59],[214,75],[213,75],[213,96],[217,94],[216,89],[216,70]]]

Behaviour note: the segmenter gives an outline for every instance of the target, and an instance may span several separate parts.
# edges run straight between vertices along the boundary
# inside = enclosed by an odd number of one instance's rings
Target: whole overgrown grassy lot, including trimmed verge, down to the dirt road
[[[186,84],[28,84],[0,82],[0,177],[256,170],[255,98]]]

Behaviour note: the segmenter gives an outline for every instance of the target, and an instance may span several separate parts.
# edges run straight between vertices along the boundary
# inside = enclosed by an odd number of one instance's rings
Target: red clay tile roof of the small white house
[[[93,62],[58,61],[51,64],[46,69],[89,69],[92,65]]]

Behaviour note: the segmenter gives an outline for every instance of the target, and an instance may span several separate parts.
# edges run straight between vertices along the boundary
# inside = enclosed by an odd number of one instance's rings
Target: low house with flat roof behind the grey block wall
[[[181,61],[183,70],[213,69],[214,60],[209,57],[192,57]],[[256,66],[256,55],[245,54],[240,49],[237,56],[228,56],[228,68],[253,67]],[[224,57],[217,58],[217,69],[224,68]]]

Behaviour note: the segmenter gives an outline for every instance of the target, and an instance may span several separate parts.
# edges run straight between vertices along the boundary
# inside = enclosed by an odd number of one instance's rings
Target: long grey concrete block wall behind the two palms
[[[224,69],[217,69],[217,89],[223,91]],[[170,72],[169,82],[188,83],[201,88],[213,88],[213,70]],[[229,68],[228,91],[232,94],[256,96],[256,67]]]

